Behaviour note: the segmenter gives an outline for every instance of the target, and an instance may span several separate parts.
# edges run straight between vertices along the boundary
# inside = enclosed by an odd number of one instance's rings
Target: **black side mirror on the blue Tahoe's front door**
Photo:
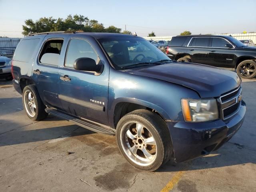
[[[100,72],[102,65],[97,65],[92,58],[82,57],[75,60],[74,69],[80,71]]]

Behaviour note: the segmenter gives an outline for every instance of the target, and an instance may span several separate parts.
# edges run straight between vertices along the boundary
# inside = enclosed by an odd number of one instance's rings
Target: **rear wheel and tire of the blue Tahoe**
[[[28,85],[22,92],[22,102],[26,114],[34,121],[42,120],[48,116],[35,85]]]

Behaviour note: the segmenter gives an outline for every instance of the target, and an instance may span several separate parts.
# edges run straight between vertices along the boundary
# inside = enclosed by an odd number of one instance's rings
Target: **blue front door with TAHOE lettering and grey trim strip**
[[[92,37],[70,38],[58,77],[59,98],[66,112],[108,124],[108,66],[104,66],[101,74],[74,69],[78,58],[92,58],[96,64],[101,62],[98,54],[102,53],[97,52],[95,46],[99,48]],[[63,77],[68,80],[62,80]]]

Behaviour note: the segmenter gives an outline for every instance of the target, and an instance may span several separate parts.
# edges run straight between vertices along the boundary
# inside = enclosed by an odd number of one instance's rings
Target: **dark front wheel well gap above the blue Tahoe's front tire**
[[[128,102],[120,102],[116,105],[115,110],[114,110],[114,126],[116,128],[119,120],[126,114],[138,110],[138,109],[146,109],[149,111],[152,111],[156,114],[158,114],[162,119],[164,119],[156,110],[148,108],[146,106],[142,106],[139,104],[134,104],[134,103],[128,103]]]

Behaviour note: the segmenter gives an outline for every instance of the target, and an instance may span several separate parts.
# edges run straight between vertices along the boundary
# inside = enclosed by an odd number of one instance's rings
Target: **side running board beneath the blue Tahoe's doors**
[[[104,134],[115,134],[115,132],[108,127],[104,127],[104,126],[101,126],[94,122],[91,122],[89,120],[85,120],[82,118],[78,118],[78,117],[66,114],[64,112],[61,112],[61,111],[55,109],[55,108],[46,108],[45,111],[46,111],[46,113],[49,113],[49,114],[52,114],[59,118],[73,122],[74,124],[77,124],[83,128],[89,129],[94,132],[104,133]]]

